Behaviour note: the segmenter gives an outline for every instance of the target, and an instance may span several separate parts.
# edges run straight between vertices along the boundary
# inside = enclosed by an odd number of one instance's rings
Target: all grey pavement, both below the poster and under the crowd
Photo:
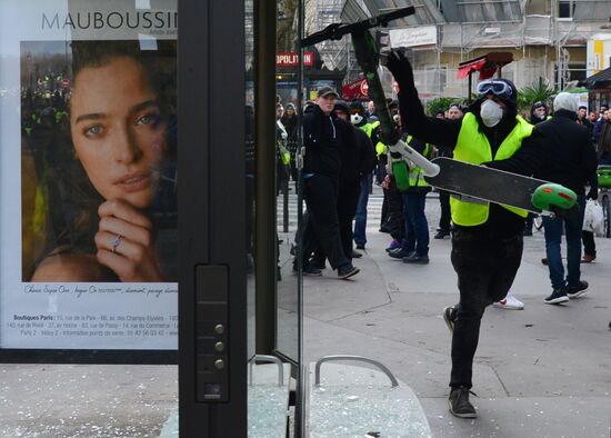
[[[353,280],[329,269],[304,279],[306,364],[337,354],[380,360],[415,391],[434,437],[611,436],[611,239],[598,238],[597,261],[582,265],[589,293],[564,306],[543,303],[542,233],[524,239],[512,291],[525,309],[487,310],[473,375],[479,418],[469,420],[447,405],[441,311],[458,301],[450,241],[431,239],[431,262],[409,266],[387,256],[390,238],[374,226]],[[0,437],[157,437],[177,380],[171,366],[0,365]]]

